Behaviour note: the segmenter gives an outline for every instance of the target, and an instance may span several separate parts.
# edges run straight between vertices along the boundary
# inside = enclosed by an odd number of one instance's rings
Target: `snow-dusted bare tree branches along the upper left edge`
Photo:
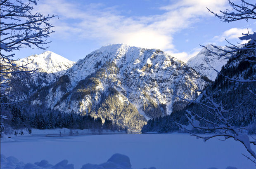
[[[28,0],[28,2],[0,0],[1,104],[2,98],[17,96],[17,94],[8,94],[12,84],[11,76],[17,74],[19,77],[16,80],[21,80],[36,73],[36,70],[29,68],[29,64],[17,66],[15,60],[12,59],[15,51],[24,47],[47,49],[48,47],[45,47],[45,45],[50,42],[47,42],[46,39],[54,32],[49,21],[56,15],[33,14],[31,3],[37,5],[35,0]]]

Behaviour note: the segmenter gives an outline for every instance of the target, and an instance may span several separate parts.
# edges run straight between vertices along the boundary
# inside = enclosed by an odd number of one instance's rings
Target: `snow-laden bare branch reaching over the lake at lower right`
[[[250,153],[250,155],[256,159],[255,152],[251,149],[251,145],[256,145],[256,140],[250,141],[247,134],[244,134],[242,132],[244,127],[234,127],[231,124],[232,115],[230,115],[231,110],[226,110],[225,107],[222,105],[222,103],[216,103],[213,99],[211,99],[205,92],[202,93],[204,96],[204,103],[197,102],[197,101],[190,101],[187,99],[183,99],[179,97],[180,99],[184,101],[189,101],[192,103],[198,103],[201,106],[204,106],[206,108],[206,112],[209,113],[209,115],[204,115],[202,117],[198,113],[194,113],[192,111],[187,110],[187,120],[189,122],[188,125],[183,125],[178,122],[176,124],[179,126],[179,128],[182,131],[185,131],[192,136],[196,136],[198,138],[203,138],[204,141],[209,140],[210,138],[224,136],[225,139],[233,138],[236,141],[239,141],[244,145],[246,150]],[[234,109],[232,109],[234,110]],[[215,131],[213,134],[209,134],[207,136],[201,136],[199,134],[195,134],[192,130],[204,130],[204,131]],[[217,134],[216,134],[217,133]],[[249,157],[250,158],[250,157]],[[250,158],[251,160],[251,158]],[[251,160],[255,163],[255,160]]]

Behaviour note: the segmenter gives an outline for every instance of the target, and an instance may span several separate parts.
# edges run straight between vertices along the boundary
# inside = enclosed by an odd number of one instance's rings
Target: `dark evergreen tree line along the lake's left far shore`
[[[109,129],[112,131],[126,130],[111,120],[105,118],[104,123],[100,117],[93,118],[90,115],[81,115],[77,113],[61,113],[50,109],[38,108],[38,106],[26,108],[24,105],[7,105],[1,106],[1,113],[7,116],[4,119],[6,131],[8,129]]]

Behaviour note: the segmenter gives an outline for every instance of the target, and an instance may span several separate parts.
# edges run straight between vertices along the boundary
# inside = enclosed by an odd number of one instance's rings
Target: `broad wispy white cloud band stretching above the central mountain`
[[[79,2],[78,2],[79,3]],[[161,7],[163,14],[153,16],[124,16],[115,7],[102,4],[74,4],[65,0],[44,0],[36,10],[43,14],[58,14],[52,19],[59,38],[98,40],[99,44],[125,43],[145,48],[175,51],[173,35],[189,28],[199,17],[212,16],[213,11],[225,9],[226,0],[180,0]],[[179,53],[177,55],[182,55]],[[184,57],[187,58],[190,56]]]

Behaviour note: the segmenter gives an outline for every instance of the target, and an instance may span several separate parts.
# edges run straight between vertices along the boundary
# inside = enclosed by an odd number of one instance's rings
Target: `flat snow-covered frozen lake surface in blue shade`
[[[188,134],[102,134],[83,136],[17,136],[1,142],[1,154],[25,163],[47,160],[57,164],[66,159],[81,169],[83,164],[101,164],[113,154],[130,158],[132,168],[156,169],[255,169],[241,153],[241,143],[228,139],[204,142]],[[256,151],[256,146],[253,147]]]

